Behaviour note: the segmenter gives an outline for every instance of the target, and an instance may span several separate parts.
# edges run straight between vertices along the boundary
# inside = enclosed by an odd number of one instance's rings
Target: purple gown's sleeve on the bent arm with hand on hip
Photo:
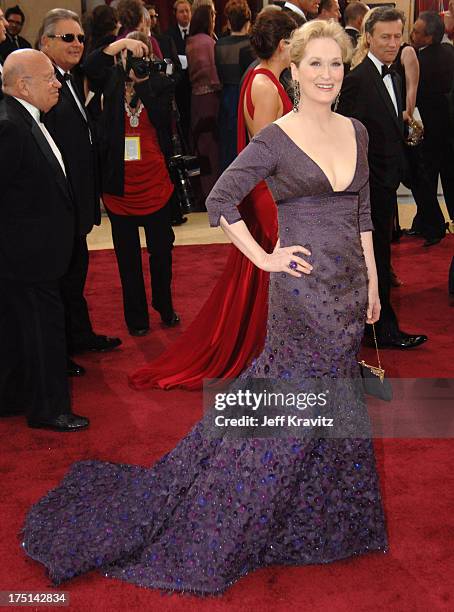
[[[263,179],[272,176],[278,163],[278,149],[272,146],[269,130],[255,136],[221,175],[206,200],[208,219],[217,227],[221,216],[229,225],[241,220],[237,206]]]

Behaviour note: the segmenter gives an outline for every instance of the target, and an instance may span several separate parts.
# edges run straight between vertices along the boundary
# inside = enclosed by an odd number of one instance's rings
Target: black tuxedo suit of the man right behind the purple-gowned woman
[[[391,232],[396,191],[404,173],[404,132],[398,76],[393,77],[396,114],[391,97],[373,62],[366,57],[344,79],[337,112],[359,119],[369,134],[371,213],[374,251],[382,306],[377,334],[383,339],[398,334],[396,315],[390,303]]]

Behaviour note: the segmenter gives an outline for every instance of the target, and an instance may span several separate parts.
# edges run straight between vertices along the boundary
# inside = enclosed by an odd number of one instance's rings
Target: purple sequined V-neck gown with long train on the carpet
[[[213,225],[221,214],[234,222],[235,204],[266,178],[281,245],[312,251],[310,276],[271,274],[265,349],[245,375],[357,376],[367,297],[360,231],[372,226],[367,133],[354,128],[357,167],[346,191],[333,192],[272,124],[207,201]],[[97,568],[145,587],[209,594],[267,565],[386,550],[369,439],[213,439],[205,419],[152,468],[74,464],[28,513],[25,551],[56,584]]]

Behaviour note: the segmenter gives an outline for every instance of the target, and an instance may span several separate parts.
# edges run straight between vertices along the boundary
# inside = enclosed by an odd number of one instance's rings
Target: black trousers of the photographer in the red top
[[[173,196],[172,196],[173,197]],[[149,253],[152,306],[164,319],[173,314],[171,200],[149,215],[116,215],[108,211],[112,239],[123,291],[123,309],[129,328],[149,326],[148,304],[142,270],[139,227],[145,230]]]

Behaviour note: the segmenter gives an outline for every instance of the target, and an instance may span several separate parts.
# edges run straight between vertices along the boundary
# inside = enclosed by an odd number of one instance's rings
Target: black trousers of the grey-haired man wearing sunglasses
[[[77,236],[74,240],[74,250],[68,271],[60,280],[69,353],[72,353],[78,344],[88,342],[94,334],[88,314],[87,300],[84,297],[87,273],[87,237]]]

